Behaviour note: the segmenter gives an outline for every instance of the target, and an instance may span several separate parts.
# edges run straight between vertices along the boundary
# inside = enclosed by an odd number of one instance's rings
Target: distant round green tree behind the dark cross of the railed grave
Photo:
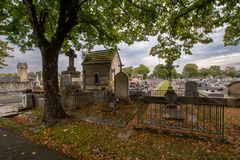
[[[172,78],[176,78],[177,77],[177,71],[175,68],[172,68]],[[158,78],[163,78],[163,79],[167,79],[168,77],[168,68],[166,65],[164,64],[158,64],[154,67],[154,70],[153,70],[153,75],[155,77],[158,77]]]

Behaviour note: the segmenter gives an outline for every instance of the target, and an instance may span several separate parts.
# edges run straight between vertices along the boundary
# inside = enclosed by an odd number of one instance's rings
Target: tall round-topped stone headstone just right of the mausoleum
[[[119,72],[115,76],[115,96],[116,98],[120,99],[127,99],[129,97],[128,93],[128,86],[129,86],[129,81],[128,81],[128,76],[123,73]]]

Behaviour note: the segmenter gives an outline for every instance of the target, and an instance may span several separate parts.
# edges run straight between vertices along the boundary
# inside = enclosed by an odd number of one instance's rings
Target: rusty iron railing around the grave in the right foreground
[[[174,104],[166,102],[164,98],[145,97],[142,101],[145,103],[146,110],[138,122],[149,127],[217,135],[223,138],[224,104],[207,97],[199,98],[199,101],[179,100]]]

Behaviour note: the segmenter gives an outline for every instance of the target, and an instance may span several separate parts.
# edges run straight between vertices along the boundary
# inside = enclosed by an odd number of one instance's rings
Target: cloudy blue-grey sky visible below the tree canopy
[[[209,67],[211,65],[220,65],[223,69],[225,66],[234,66],[240,70],[240,46],[227,46],[223,44],[224,29],[217,29],[211,34],[214,42],[208,45],[196,44],[192,49],[193,55],[183,55],[176,65],[178,72],[182,72],[182,68],[187,63],[196,63],[199,68]],[[121,43],[118,45],[120,48],[120,56],[125,67],[137,67],[139,64],[147,65],[151,71],[154,66],[163,63],[161,59],[149,55],[151,47],[157,44],[156,37],[150,37],[149,41],[136,42],[133,45]],[[18,62],[26,62],[28,64],[28,71],[41,70],[41,55],[38,49],[22,54],[16,47],[11,54],[14,58],[7,58],[7,67],[0,69],[0,73],[14,73]],[[103,49],[100,46],[95,47],[95,50]],[[81,71],[80,54],[75,59],[75,67]],[[68,66],[68,58],[61,55],[59,58],[59,71],[66,70]]]

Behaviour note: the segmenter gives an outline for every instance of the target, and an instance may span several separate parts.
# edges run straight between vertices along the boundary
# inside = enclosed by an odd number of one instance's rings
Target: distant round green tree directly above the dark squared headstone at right
[[[183,68],[183,75],[186,78],[195,78],[198,76],[198,66],[196,64],[186,64]]]

